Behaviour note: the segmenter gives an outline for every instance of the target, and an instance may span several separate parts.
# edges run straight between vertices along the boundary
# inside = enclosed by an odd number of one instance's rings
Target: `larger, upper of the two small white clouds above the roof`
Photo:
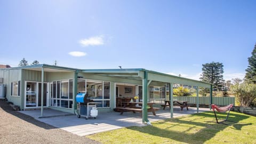
[[[81,40],[79,41],[79,43],[80,43],[82,46],[103,45],[103,44],[104,44],[103,35],[101,35],[101,36],[89,37],[89,38],[84,38],[84,39],[81,39]]]

